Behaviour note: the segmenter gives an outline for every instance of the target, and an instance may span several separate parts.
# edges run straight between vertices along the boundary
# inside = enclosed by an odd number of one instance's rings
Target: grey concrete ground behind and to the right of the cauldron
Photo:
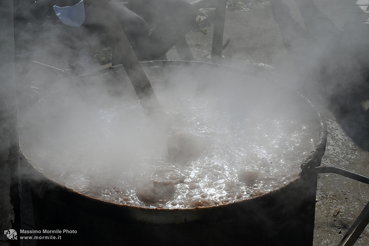
[[[293,18],[303,24],[301,15],[293,0],[284,1],[291,9]],[[356,0],[314,0],[316,6],[342,30],[345,20],[353,15],[365,18],[366,13],[353,12]],[[364,7],[365,1],[362,1]],[[244,9],[245,10],[245,9]],[[223,64],[253,72],[265,73],[271,79],[279,80],[289,87],[298,89],[295,66],[282,44],[269,1],[262,1],[246,8],[247,11],[227,11],[223,44],[229,45],[223,51]],[[368,18],[368,17],[366,17]],[[187,41],[196,60],[211,62],[212,27],[192,31]],[[178,59],[174,49],[168,52],[168,59]],[[321,103],[319,98],[308,97],[324,115],[328,127],[328,144],[322,165],[337,166],[369,176],[369,152],[358,148],[337,123],[334,114]],[[352,223],[369,200],[369,186],[337,174],[321,174],[318,179],[314,246],[338,245]],[[338,209],[337,215],[334,211]],[[336,210],[336,211],[338,211]],[[355,243],[369,245],[369,227]]]

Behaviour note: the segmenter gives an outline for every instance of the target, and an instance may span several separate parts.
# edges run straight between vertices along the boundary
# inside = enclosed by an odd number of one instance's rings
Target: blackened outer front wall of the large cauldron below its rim
[[[33,185],[38,230],[75,230],[38,245],[312,245],[317,177],[221,208],[198,209],[197,221],[137,221],[132,209],[93,200],[49,180]]]

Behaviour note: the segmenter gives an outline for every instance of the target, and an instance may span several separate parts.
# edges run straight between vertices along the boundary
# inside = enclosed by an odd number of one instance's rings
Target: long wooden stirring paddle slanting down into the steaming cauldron
[[[173,163],[189,161],[187,157],[193,156],[193,148],[189,148],[188,146],[194,146],[194,142],[196,141],[190,141],[189,139],[193,138],[190,138],[188,133],[180,134],[172,128],[168,115],[160,105],[108,0],[91,1],[105,31],[113,42],[113,46],[120,52],[120,62],[122,62],[125,72],[131,80],[142,108],[147,110],[149,115],[158,120],[158,122],[161,122],[166,128],[166,135],[168,135],[169,138],[168,143],[171,145],[168,146],[169,161]],[[176,147],[173,148],[173,146]]]

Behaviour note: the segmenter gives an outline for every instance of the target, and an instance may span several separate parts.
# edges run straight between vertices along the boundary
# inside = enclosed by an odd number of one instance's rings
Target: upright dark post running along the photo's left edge
[[[12,0],[0,1],[0,45],[0,233],[1,240],[18,246],[24,245],[19,236],[8,239],[4,233],[23,229]]]

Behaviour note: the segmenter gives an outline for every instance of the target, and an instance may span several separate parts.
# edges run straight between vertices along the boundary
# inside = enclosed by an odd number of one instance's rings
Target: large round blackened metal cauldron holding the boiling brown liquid
[[[273,98],[270,107],[274,110],[288,111],[291,117],[297,117],[297,121],[313,125],[311,129],[317,144],[301,165],[310,159],[320,165],[326,143],[324,120],[309,101],[295,91],[221,65],[173,61],[142,65],[154,89],[158,88],[155,84],[158,81],[170,83],[172,77],[167,75],[175,73],[177,77],[196,77],[204,81],[200,90],[211,87],[214,80],[222,80],[235,94]],[[93,76],[110,75],[125,77],[124,72],[117,72],[120,67],[114,69],[77,79],[87,81]],[[234,80],[243,81],[249,91],[234,88]],[[225,93],[219,91],[219,96]],[[51,102],[52,98],[46,100]],[[33,108],[41,107],[40,104],[42,101]],[[20,145],[37,177],[32,182],[36,229],[76,231],[61,233],[59,240],[39,240],[39,245],[312,245],[316,174],[307,174],[275,191],[228,205],[192,209],[117,205],[79,194],[42,173],[29,155],[32,147],[32,139],[26,138],[30,135],[27,131],[32,131],[27,127],[29,117],[34,116],[27,115],[20,128]]]

